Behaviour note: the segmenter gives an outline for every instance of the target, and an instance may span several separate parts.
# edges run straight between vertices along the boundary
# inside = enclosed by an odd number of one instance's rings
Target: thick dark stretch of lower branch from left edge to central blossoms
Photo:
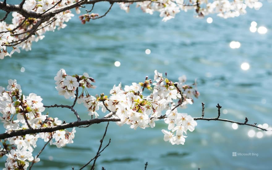
[[[36,128],[36,129],[13,130],[10,132],[0,134],[0,139],[11,138],[14,136],[22,136],[22,135],[26,135],[26,134],[36,134],[36,133],[41,133],[41,132],[54,132],[56,130],[64,130],[67,128],[78,127],[78,126],[82,126],[82,125],[98,124],[98,123],[109,122],[109,121],[116,122],[116,121],[121,121],[121,120],[115,119],[115,118],[89,119],[89,120],[85,120],[85,121],[74,121],[74,122],[65,123],[62,125],[56,125],[53,127],[41,127],[41,128]]]

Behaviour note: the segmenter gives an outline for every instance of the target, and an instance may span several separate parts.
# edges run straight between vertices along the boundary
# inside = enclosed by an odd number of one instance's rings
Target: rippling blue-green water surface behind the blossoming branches
[[[101,2],[94,12],[100,15],[109,4]],[[193,117],[201,116],[201,102],[205,103],[205,117],[216,117],[217,103],[226,109],[221,118],[272,126],[272,3],[263,1],[258,10],[248,9],[246,15],[222,19],[210,15],[213,23],[193,17],[193,12],[181,12],[175,19],[161,21],[159,13],[145,14],[131,6],[130,13],[121,11],[117,4],[104,18],[82,25],[75,16],[60,31],[47,32],[45,38],[33,43],[32,50],[15,53],[1,60],[0,86],[6,87],[8,79],[17,79],[23,93],[36,93],[45,105],[71,104],[55,90],[54,76],[61,68],[67,74],[87,72],[96,80],[91,95],[109,90],[114,84],[151,79],[154,70],[167,72],[168,78],[177,81],[187,76],[187,83],[197,79],[200,96],[185,110]],[[265,26],[266,34],[250,32],[252,21],[257,27]],[[238,49],[231,49],[231,41],[239,41]],[[151,54],[145,50],[150,49]],[[114,66],[120,61],[121,66]],[[249,70],[240,65],[247,62]],[[25,72],[20,72],[21,67]],[[77,105],[81,119],[90,119],[86,108]],[[76,121],[68,109],[50,108],[49,116],[66,122]],[[103,116],[104,113],[100,113]],[[111,143],[99,159],[96,169],[108,170],[269,170],[272,136],[250,126],[232,128],[232,123],[197,121],[193,132],[188,132],[185,145],[172,146],[164,142],[161,129],[167,125],[160,121],[156,127],[133,130],[128,125],[119,127],[110,123],[105,143]],[[106,124],[77,128],[73,144],[64,148],[47,147],[40,155],[41,161],[34,169],[79,169],[94,157]],[[262,138],[248,136],[248,131],[263,133]],[[44,142],[38,141],[36,155]],[[251,153],[251,156],[232,156],[232,153]],[[258,156],[257,156],[258,154]],[[4,167],[1,159],[0,167]],[[87,169],[89,169],[88,167]]]

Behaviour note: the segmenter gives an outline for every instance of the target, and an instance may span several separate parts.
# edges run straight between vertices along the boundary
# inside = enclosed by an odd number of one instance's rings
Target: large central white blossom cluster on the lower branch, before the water
[[[128,124],[132,129],[137,127],[142,129],[153,128],[155,127],[155,121],[164,118],[164,122],[168,124],[168,130],[172,130],[172,132],[165,130],[162,132],[168,135],[172,134],[171,138],[168,137],[172,144],[184,144],[183,132],[186,134],[187,130],[193,131],[194,126],[197,125],[191,116],[177,112],[177,107],[186,108],[188,104],[193,104],[193,96],[199,96],[199,92],[192,85],[185,84],[185,76],[181,76],[178,82],[173,83],[168,78],[163,77],[162,73],[155,70],[154,83],[146,77],[144,82],[132,83],[130,86],[126,85],[124,89],[122,89],[121,83],[118,86],[114,85],[108,96],[104,95],[104,93],[100,96],[91,96],[86,92],[84,95],[85,87],[88,86],[81,85],[81,83],[83,80],[89,83],[88,80],[92,80],[92,78],[89,78],[87,73],[83,75],[74,75],[73,80],[72,76],[70,76],[69,81],[67,81],[68,76],[65,70],[61,69],[55,77],[56,84],[61,84],[61,90],[59,90],[59,86],[56,88],[60,95],[69,98],[73,97],[76,87],[82,87],[82,93],[77,101],[79,104],[84,104],[89,112],[88,114],[92,117],[93,115],[95,115],[95,118],[99,116],[97,111],[100,108],[104,113],[108,110],[112,118],[121,120],[117,122],[118,125]],[[70,93],[73,93],[73,95],[68,95],[69,83]],[[196,83],[193,85],[196,85]],[[143,95],[144,89],[150,92],[149,95]],[[66,92],[60,93],[60,91]],[[177,101],[175,102],[175,100]],[[165,114],[163,113],[164,110],[166,110]],[[174,133],[176,133],[176,136],[173,136]],[[166,140],[166,137],[164,140]]]

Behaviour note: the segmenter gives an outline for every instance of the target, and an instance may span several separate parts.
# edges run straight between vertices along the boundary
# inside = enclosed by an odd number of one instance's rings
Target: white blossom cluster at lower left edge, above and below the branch
[[[58,118],[42,114],[45,107],[40,96],[34,93],[24,96],[16,80],[10,79],[8,83],[7,90],[0,87],[0,113],[2,114],[0,119],[6,132],[62,124]],[[40,161],[37,156],[35,158],[32,156],[38,138],[44,139],[45,142],[50,140],[50,144],[57,147],[64,147],[67,143],[73,143],[74,133],[75,129],[72,132],[57,130],[52,133],[26,134],[1,140],[3,144],[1,153],[6,153],[7,156],[4,169],[27,169],[30,162]]]

